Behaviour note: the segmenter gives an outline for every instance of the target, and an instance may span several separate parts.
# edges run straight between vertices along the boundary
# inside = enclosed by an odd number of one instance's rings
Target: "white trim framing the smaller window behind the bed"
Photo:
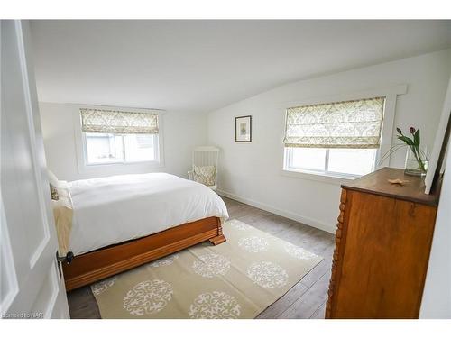
[[[118,107],[118,106],[109,106],[109,105],[75,105],[76,108],[73,111],[73,123],[75,130],[75,145],[76,145],[76,153],[77,153],[77,165],[78,165],[78,173],[79,174],[87,174],[87,173],[96,173],[99,169],[102,170],[102,173],[108,175],[108,170],[112,170],[112,172],[117,171],[120,168],[130,168],[130,169],[161,169],[164,168],[164,118],[163,114],[165,113],[162,110],[155,109],[143,109],[143,108],[129,108],[129,107]],[[155,113],[158,112],[158,160],[145,160],[145,161],[133,161],[133,162],[113,162],[113,163],[87,163],[87,151],[86,151],[86,137],[83,135],[81,130],[81,118],[80,118],[80,109],[105,109],[105,110],[118,110],[124,112],[131,113]]]

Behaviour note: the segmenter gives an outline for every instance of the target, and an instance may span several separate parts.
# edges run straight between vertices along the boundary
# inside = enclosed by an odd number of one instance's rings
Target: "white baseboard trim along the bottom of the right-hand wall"
[[[246,198],[246,197],[243,197],[243,196],[238,196],[238,195],[229,193],[229,192],[227,192],[225,190],[217,189],[216,193],[218,195],[221,195],[221,196],[225,196],[225,197],[228,197],[228,198],[231,198],[231,199],[235,199],[235,201],[245,203],[246,205],[258,207],[259,209],[268,211],[268,212],[270,212],[272,214],[280,215],[282,217],[290,218],[290,219],[292,219],[294,221],[297,221],[299,223],[307,224],[309,226],[313,226],[314,228],[317,228],[319,230],[323,230],[323,231],[325,231],[327,233],[335,233],[336,232],[335,224],[334,225],[325,224],[325,223],[319,222],[319,221],[317,221],[315,219],[312,219],[312,218],[309,218],[309,217],[305,217],[303,215],[291,213],[290,211],[281,210],[281,209],[275,208],[273,206],[269,206],[269,205],[267,205],[265,203],[261,203],[261,202],[255,201],[255,200],[250,199],[250,198]]]

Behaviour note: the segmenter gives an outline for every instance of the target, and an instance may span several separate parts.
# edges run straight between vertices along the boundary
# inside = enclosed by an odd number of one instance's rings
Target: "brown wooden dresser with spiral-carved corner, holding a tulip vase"
[[[418,318],[438,204],[423,192],[390,168],[342,186],[326,318]]]

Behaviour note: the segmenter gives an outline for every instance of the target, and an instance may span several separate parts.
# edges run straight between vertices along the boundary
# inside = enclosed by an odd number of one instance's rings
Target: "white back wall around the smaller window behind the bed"
[[[79,173],[76,155],[73,114],[78,105],[40,103],[42,134],[47,165],[59,179],[76,180],[108,175],[164,171],[187,177],[191,152],[195,146],[207,142],[205,114],[166,112],[163,116],[164,167],[152,168],[146,164],[127,164],[98,167]]]

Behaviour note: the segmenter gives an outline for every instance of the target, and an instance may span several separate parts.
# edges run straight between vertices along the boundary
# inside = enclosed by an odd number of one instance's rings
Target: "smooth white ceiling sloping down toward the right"
[[[41,101],[208,112],[451,47],[451,21],[33,21]]]

